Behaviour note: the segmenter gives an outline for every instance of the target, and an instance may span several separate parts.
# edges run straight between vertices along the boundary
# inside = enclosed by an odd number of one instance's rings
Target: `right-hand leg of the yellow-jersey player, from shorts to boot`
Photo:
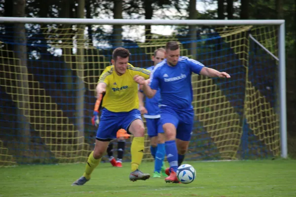
[[[142,121],[141,113],[139,110],[132,110],[128,112],[125,121],[123,122],[123,128],[134,135],[131,144],[131,173],[130,180],[146,180],[150,178],[149,174],[144,174],[138,168],[142,162],[144,155],[144,134],[145,128]]]

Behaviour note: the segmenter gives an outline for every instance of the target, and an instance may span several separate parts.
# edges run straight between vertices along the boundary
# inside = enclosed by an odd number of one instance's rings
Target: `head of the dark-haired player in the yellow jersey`
[[[112,53],[111,63],[114,65],[114,70],[118,75],[125,73],[130,52],[122,47],[114,49]]]

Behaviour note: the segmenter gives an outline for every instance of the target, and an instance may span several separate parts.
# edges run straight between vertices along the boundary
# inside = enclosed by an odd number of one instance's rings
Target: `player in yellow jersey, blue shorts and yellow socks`
[[[135,75],[149,78],[150,71],[137,68],[128,63],[130,53],[119,47],[112,53],[112,66],[106,67],[99,78],[96,87],[97,98],[105,93],[102,100],[103,110],[96,135],[94,151],[88,157],[83,176],[72,185],[83,185],[90,180],[90,175],[100,163],[111,140],[116,139],[116,132],[124,129],[133,134],[131,144],[131,181],[146,180],[149,174],[138,168],[144,154],[145,128],[139,108],[138,84],[134,81]],[[96,117],[98,114],[94,112]]]

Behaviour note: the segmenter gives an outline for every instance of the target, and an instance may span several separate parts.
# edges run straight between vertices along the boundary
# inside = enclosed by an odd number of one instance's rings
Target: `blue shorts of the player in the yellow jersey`
[[[124,129],[129,133],[129,126],[137,119],[142,120],[138,109],[129,112],[111,112],[104,108],[100,117],[96,139],[100,141],[116,139],[116,133],[119,129]]]

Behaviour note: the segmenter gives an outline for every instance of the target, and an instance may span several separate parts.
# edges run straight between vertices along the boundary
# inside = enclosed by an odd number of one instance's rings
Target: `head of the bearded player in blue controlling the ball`
[[[165,56],[170,66],[176,66],[180,57],[179,44],[176,41],[169,41],[165,47]]]

